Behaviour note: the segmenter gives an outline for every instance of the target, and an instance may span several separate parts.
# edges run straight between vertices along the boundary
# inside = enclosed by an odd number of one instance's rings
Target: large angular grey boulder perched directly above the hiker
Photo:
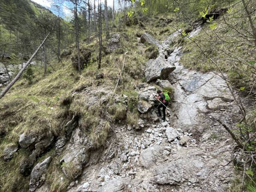
[[[146,81],[151,82],[156,79],[166,79],[175,69],[176,67],[174,65],[168,63],[160,56],[156,59],[150,59],[145,67]]]

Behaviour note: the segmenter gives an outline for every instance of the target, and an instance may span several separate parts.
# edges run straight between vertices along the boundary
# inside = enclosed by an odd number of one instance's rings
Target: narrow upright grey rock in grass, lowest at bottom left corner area
[[[49,164],[52,157],[47,157],[42,163],[38,163],[32,170],[29,181],[29,191],[33,192],[35,189],[44,184]]]

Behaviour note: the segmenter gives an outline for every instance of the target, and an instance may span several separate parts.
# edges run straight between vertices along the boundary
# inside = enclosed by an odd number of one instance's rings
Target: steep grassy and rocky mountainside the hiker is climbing
[[[171,16],[113,28],[100,69],[97,34],[80,44],[82,74],[75,46],[44,76],[31,66],[31,79],[26,73],[0,100],[0,191],[236,191],[241,173],[230,160],[243,159],[224,126],[239,131],[239,90],[223,78],[229,70],[200,60],[193,40],[212,32],[208,24],[176,30]],[[159,89],[171,98],[166,121]]]

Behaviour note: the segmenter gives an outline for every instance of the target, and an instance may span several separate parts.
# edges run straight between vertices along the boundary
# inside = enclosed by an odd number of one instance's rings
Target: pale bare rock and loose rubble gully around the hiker
[[[193,30],[190,36],[200,30]],[[149,34],[142,36],[158,47],[160,55],[146,64],[148,83],[137,85],[141,113],[137,127],[122,122],[113,125],[106,147],[93,151],[75,119],[67,123],[66,127],[74,127],[69,133],[71,138],[58,138],[55,148],[64,154],[61,162],[74,163],[80,168],[76,174],[81,175],[70,183],[68,192],[227,191],[234,172],[229,164],[233,141],[216,119],[232,124],[238,109],[218,74],[187,70],[180,64],[181,47],[170,48],[178,35],[175,32],[163,43]],[[151,82],[155,80],[160,87],[175,90],[171,111],[166,110],[166,122],[160,121],[154,108],[152,93],[156,88]],[[125,95],[121,99],[127,102]],[[32,170],[32,191],[45,192],[49,188],[40,183],[50,160],[45,161],[42,169],[37,165]]]

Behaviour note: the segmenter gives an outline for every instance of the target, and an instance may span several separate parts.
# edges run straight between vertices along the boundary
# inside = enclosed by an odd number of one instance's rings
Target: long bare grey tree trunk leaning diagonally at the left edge
[[[28,65],[30,64],[30,62],[32,61],[32,59],[35,57],[36,53],[38,52],[38,50],[43,46],[44,42],[47,40],[47,38],[49,37],[49,35],[51,34],[51,32],[48,33],[48,35],[46,36],[46,38],[44,39],[44,41],[41,43],[41,45],[36,49],[36,51],[34,52],[34,54],[31,56],[31,58],[29,58],[29,61],[26,62],[26,64],[24,65],[24,67],[20,70],[20,72],[17,74],[17,76],[12,79],[12,81],[7,85],[7,87],[1,92],[0,94],[0,99],[3,98],[3,96],[8,92],[8,90],[12,87],[12,85],[15,84],[15,82],[20,78],[20,76],[22,75],[22,73],[24,72],[24,70],[26,69],[26,67],[28,67]]]

